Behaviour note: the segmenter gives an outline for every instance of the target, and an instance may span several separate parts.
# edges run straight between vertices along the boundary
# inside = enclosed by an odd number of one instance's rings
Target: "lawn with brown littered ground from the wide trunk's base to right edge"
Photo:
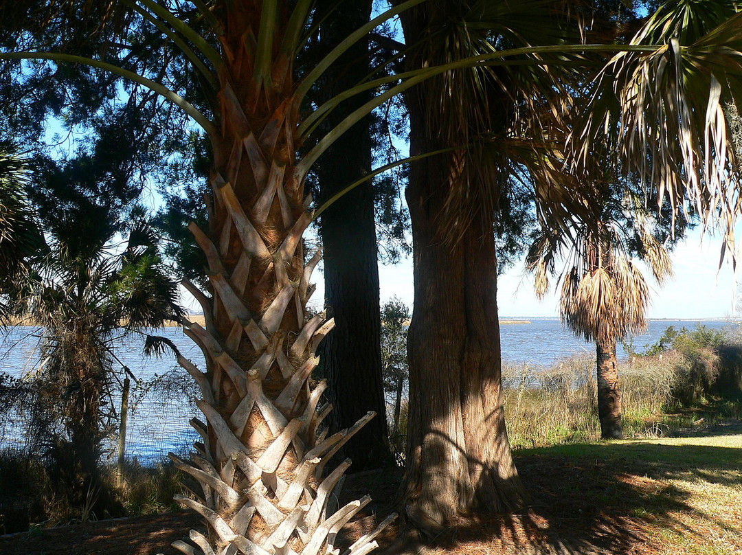
[[[742,554],[742,424],[516,452],[531,505],[427,553]]]

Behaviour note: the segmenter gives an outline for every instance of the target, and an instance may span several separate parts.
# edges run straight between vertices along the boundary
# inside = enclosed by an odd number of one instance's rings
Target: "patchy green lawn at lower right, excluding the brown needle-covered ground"
[[[565,514],[586,517],[581,538],[568,516],[556,516],[555,529],[572,542],[591,545],[613,535],[621,549],[608,552],[741,554],[742,424],[698,433],[521,450],[516,464],[527,487],[536,482],[536,512],[545,500],[540,493],[559,497]],[[551,487],[534,472],[566,483]]]

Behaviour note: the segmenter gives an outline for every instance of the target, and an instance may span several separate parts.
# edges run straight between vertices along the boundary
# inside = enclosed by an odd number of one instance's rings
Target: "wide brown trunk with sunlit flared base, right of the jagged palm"
[[[411,97],[410,154],[432,150]],[[436,533],[473,509],[512,510],[523,491],[502,407],[496,256],[491,230],[470,226],[441,241],[450,175],[443,157],[410,167],[415,302],[407,351],[405,513]],[[441,183],[443,181],[443,183]]]

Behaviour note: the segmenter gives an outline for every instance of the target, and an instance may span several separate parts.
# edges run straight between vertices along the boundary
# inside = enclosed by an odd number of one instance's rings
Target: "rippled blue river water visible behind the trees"
[[[503,361],[550,367],[562,358],[594,353],[593,344],[587,344],[581,338],[576,338],[564,329],[557,319],[536,318],[530,322],[500,326]],[[646,345],[654,344],[668,326],[695,329],[697,324],[699,324],[697,321],[650,321],[646,334],[634,338],[634,348],[643,350]],[[703,321],[700,324],[713,329],[739,327],[739,324],[729,324],[727,321]],[[167,328],[164,331],[157,330],[156,333],[170,338],[186,358],[203,367],[203,357],[199,349],[183,335],[182,329]],[[38,329],[32,327],[10,329],[0,338],[0,373],[20,377],[26,372],[32,372],[39,363],[36,354],[38,341]],[[130,458],[137,456],[140,462],[151,463],[162,459],[169,450],[176,452],[187,450],[189,444],[196,439],[188,420],[197,416],[197,410],[194,404],[184,398],[182,386],[191,384],[192,378],[170,357],[157,359],[142,355],[142,341],[137,339],[122,344],[117,355],[142,381],[151,379],[155,374],[174,378],[171,380],[170,390],[159,390],[156,393],[138,390],[132,384],[133,399],[137,401],[139,396],[139,402],[134,413],[129,415],[128,456]],[[619,356],[626,357],[626,352],[620,346]],[[114,395],[113,402],[119,404],[120,396]],[[22,430],[17,424],[17,418],[11,418],[7,424],[0,422],[0,447],[23,444]]]

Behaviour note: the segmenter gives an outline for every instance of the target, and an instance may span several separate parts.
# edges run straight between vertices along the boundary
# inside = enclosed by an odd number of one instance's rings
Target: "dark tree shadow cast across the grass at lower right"
[[[742,536],[740,523],[693,508],[692,493],[672,482],[741,487],[742,447],[632,441],[522,450],[515,457],[531,498],[528,510],[476,516],[441,534],[437,550],[408,543],[390,553],[644,553],[652,534],[704,537],[704,520]],[[683,513],[689,518],[678,519]]]

